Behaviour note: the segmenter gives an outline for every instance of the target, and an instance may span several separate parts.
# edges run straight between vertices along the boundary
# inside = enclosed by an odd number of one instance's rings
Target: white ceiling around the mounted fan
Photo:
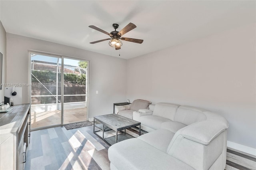
[[[217,32],[255,23],[256,1],[108,1],[0,0],[0,20],[8,33],[46,40],[129,59],[189,42]],[[89,28],[120,31],[129,22],[137,28],[125,34],[142,44],[123,41],[115,50],[109,38]],[[119,56],[120,52],[120,56]]]

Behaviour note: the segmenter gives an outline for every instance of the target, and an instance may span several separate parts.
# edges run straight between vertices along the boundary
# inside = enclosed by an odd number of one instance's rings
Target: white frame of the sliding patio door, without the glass
[[[36,51],[36,50],[28,50],[28,84],[31,83],[31,54],[37,54],[37,55],[45,55],[48,57],[56,57],[61,59],[61,123],[57,125],[49,125],[45,127],[40,127],[40,128],[33,128],[33,130],[40,130],[44,128],[51,128],[51,127],[58,127],[58,126],[63,126],[64,125],[64,59],[74,59],[74,60],[79,60],[79,61],[86,61],[87,62],[87,75],[86,75],[86,109],[87,109],[87,118],[86,120],[89,119],[89,82],[90,82],[90,61],[87,59],[81,59],[78,57],[71,57],[71,56],[66,56],[66,55],[60,55],[60,54],[55,54],[55,53],[48,53],[48,52],[43,52],[43,51]],[[58,98],[58,97],[57,97]],[[31,111],[31,86],[28,89],[28,103],[30,103],[30,111]],[[31,116],[31,114],[30,114]]]

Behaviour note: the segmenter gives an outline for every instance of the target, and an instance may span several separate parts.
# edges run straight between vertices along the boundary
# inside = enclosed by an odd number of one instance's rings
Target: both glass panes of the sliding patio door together
[[[31,127],[87,120],[87,61],[30,52]]]

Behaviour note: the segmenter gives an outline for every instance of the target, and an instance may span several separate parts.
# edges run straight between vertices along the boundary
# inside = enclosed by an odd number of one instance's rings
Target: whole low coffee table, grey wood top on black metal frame
[[[99,123],[101,123],[102,127],[100,127],[99,124],[95,124],[95,121],[98,121]],[[105,140],[104,132],[109,131],[109,130],[115,130],[116,131],[116,143],[117,143],[118,131],[124,130],[124,133],[126,133],[126,128],[137,127],[137,126],[139,126],[139,135],[140,135],[141,134],[141,123],[138,121],[134,121],[132,119],[120,116],[120,115],[116,115],[116,114],[101,115],[101,116],[94,117],[94,120],[93,120],[94,134],[99,136],[108,145],[111,145],[111,144]],[[95,131],[95,127],[99,130]],[[100,136],[99,134],[96,133],[99,131],[102,131],[102,136]],[[128,134],[128,135],[130,135],[130,134]]]

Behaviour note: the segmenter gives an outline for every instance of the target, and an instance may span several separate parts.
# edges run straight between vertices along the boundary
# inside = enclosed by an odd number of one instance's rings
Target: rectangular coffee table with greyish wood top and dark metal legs
[[[126,133],[126,128],[136,127],[136,126],[139,126],[141,128],[140,122],[134,121],[132,119],[129,119],[120,115],[116,115],[116,114],[95,116],[93,120],[94,134],[99,136],[102,140],[104,140],[109,145],[112,145],[114,143],[120,142],[128,138],[133,138],[133,136]],[[97,128],[98,130],[95,131],[95,128]],[[139,130],[141,131],[140,128]],[[104,132],[107,132],[109,130],[115,130],[116,135],[108,138],[104,138]],[[122,130],[124,130],[124,132]],[[102,136],[97,134],[97,132],[100,132],[100,131],[102,131]],[[118,131],[122,131],[123,133],[118,134]]]

